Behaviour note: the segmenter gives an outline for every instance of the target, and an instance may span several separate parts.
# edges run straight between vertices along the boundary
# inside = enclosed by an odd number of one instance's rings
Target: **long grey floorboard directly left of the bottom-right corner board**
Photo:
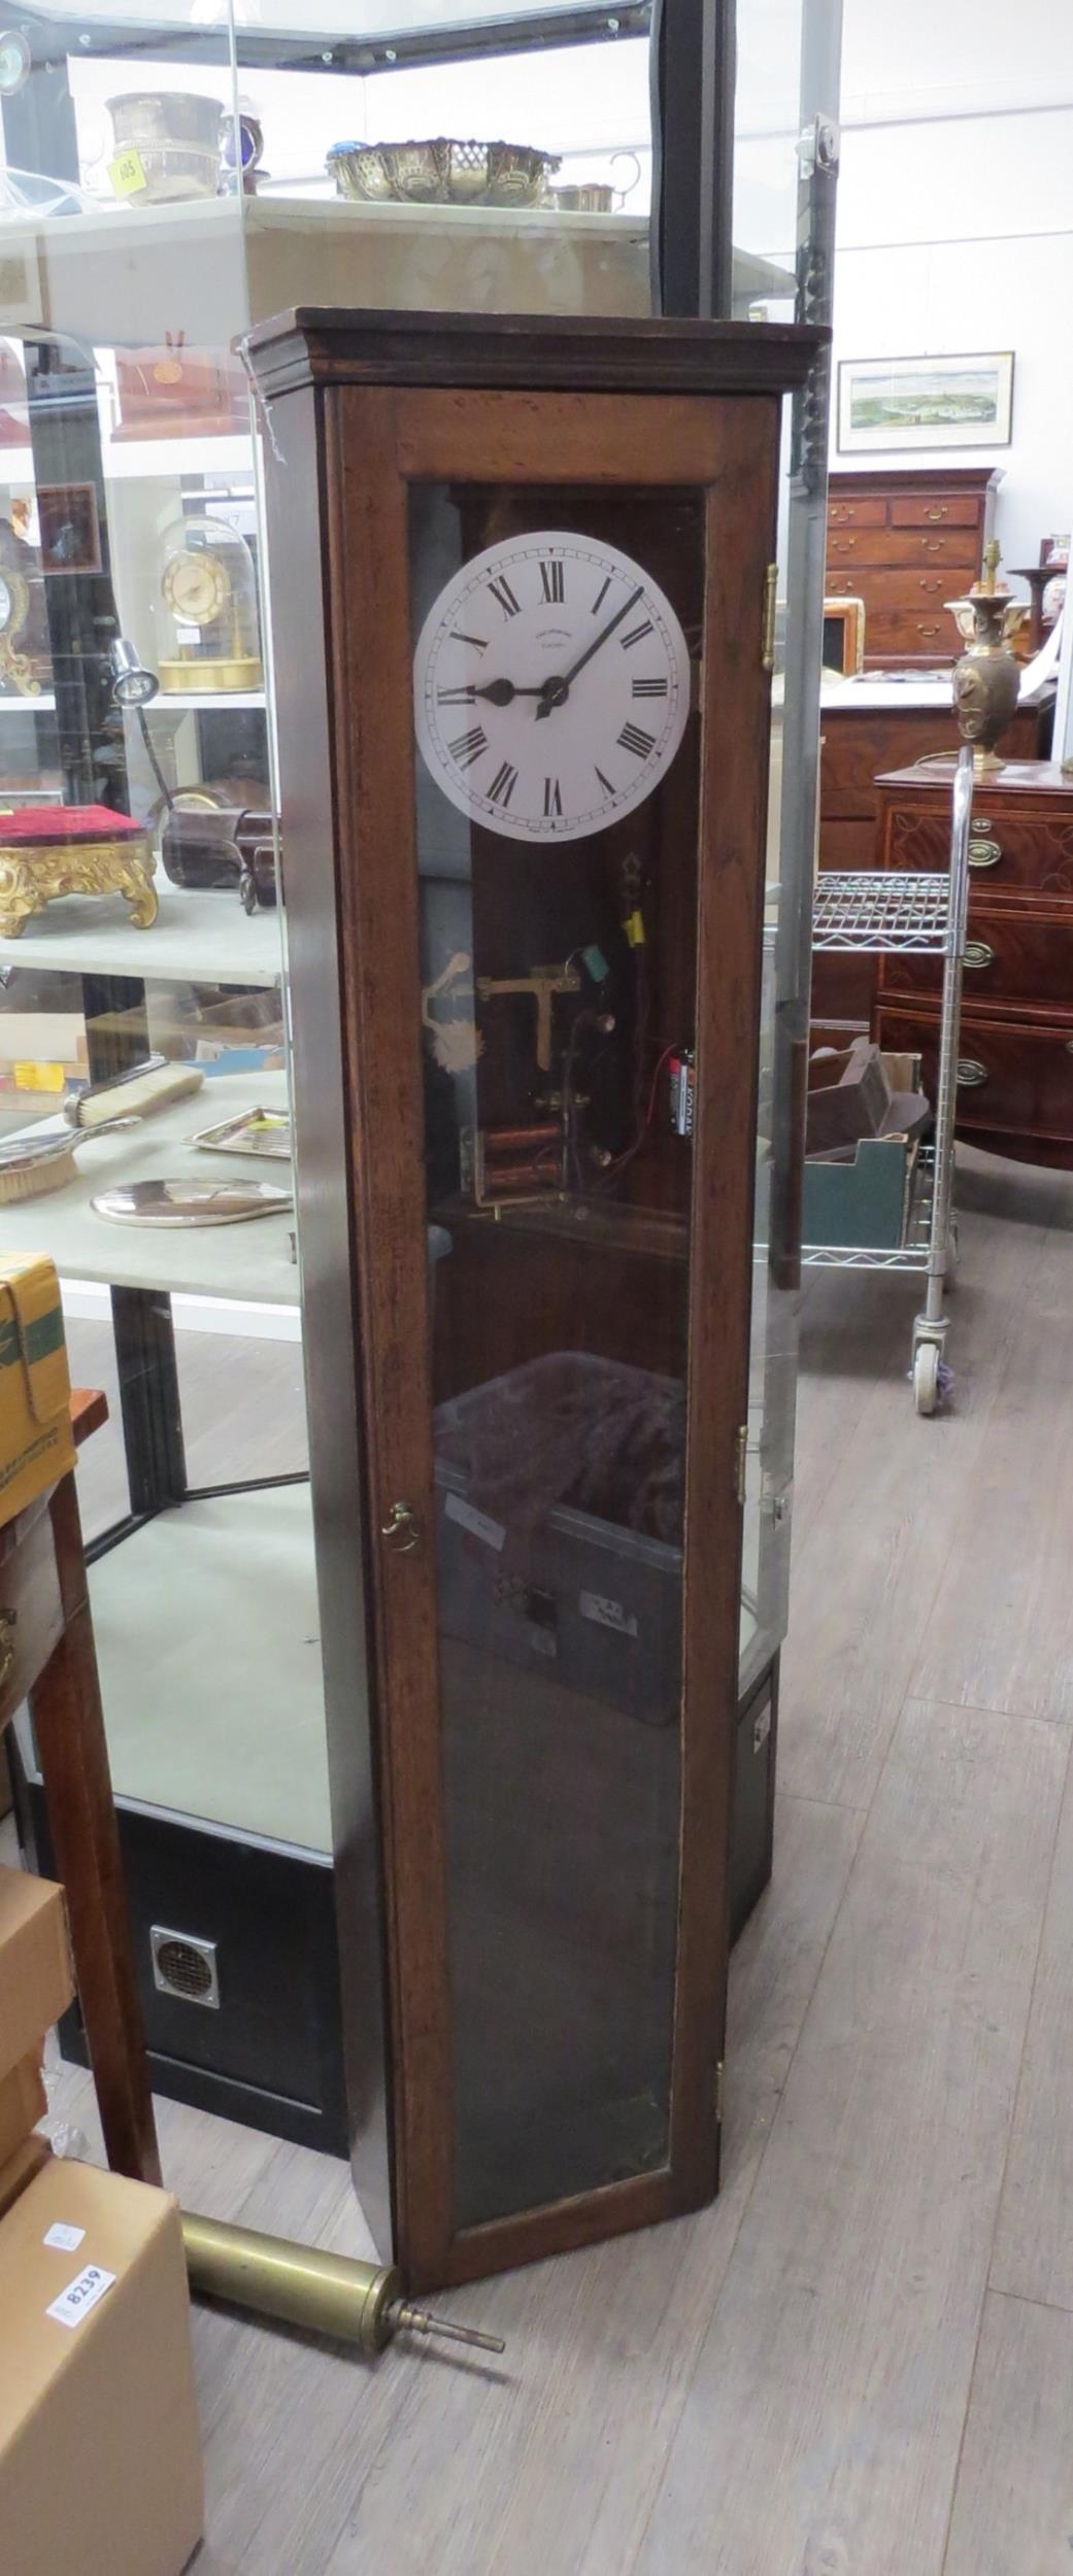
[[[635,2576],[939,2568],[1063,1770],[905,1708]]]

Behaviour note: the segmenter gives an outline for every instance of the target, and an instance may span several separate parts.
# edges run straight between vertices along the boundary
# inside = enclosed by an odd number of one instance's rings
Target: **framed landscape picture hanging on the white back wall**
[[[867,448],[1009,448],[1014,350],[978,358],[843,358],[838,453]]]

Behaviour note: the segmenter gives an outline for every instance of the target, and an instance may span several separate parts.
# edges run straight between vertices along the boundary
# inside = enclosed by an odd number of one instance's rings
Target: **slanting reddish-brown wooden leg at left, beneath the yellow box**
[[[70,1497],[54,1512],[54,1525],[70,1613],[67,1631],[31,1692],[34,1734],[52,1850],[67,1893],[75,1981],[108,2164],[134,2182],[160,2182],[93,1623],[85,1574],[77,1587],[72,1564],[72,1535],[80,1553],[75,1479],[64,1479],[64,1486]],[[62,1486],[57,1502],[59,1497]],[[77,1589],[83,1602],[75,1607]]]

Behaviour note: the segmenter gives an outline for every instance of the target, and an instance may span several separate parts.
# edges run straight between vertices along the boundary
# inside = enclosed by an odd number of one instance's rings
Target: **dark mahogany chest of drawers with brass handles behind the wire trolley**
[[[949,773],[877,781],[882,868],[947,868]],[[1073,1170],[1073,778],[1011,760],[972,796],[957,1133]],[[934,1082],[939,961],[880,958],[874,1036]]]

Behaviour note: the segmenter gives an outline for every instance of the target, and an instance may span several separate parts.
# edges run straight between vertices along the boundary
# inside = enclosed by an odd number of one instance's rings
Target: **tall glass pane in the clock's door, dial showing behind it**
[[[475,2226],[668,2161],[702,502],[415,487],[410,513],[454,2218]]]

